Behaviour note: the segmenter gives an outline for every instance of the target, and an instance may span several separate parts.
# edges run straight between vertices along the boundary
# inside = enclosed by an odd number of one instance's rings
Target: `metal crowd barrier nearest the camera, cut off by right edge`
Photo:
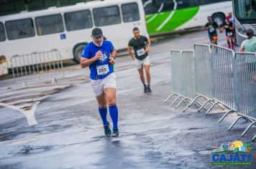
[[[243,118],[251,122],[242,133],[244,136],[252,125],[256,125],[256,53],[237,52],[234,58],[235,95],[239,117],[234,120],[229,130]],[[255,138],[256,135],[252,140]]]

